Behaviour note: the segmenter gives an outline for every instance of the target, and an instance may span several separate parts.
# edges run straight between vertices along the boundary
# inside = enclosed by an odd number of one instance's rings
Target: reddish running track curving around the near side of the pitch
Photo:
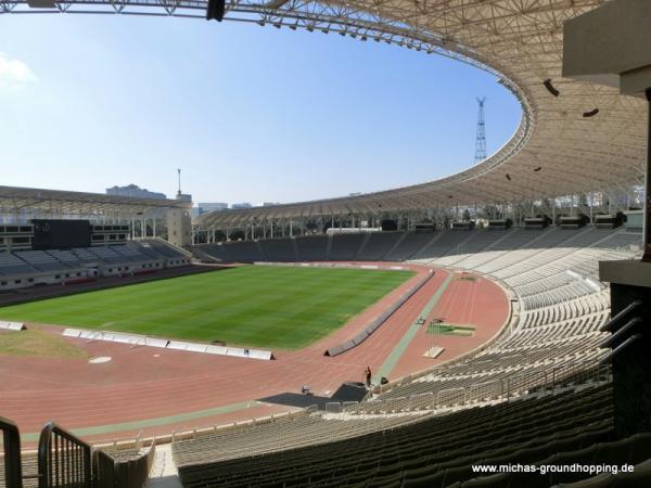
[[[414,269],[426,272],[422,267]],[[446,303],[462,304],[468,299],[454,296],[467,293],[463,286],[457,285],[457,280],[448,282],[437,294],[446,280],[449,272],[437,270],[435,277],[368,341],[334,358],[323,357],[326,348],[361,330],[411,281],[329,337],[298,351],[275,351],[276,361],[206,357],[146,347],[131,349],[120,344],[78,339],[71,342],[82,347],[88,356],[111,356],[113,360],[90,365],[84,360],[0,356],[0,414],[15,420],[27,434],[26,441],[33,442],[34,434],[48,420],[91,441],[102,441],[133,437],[140,432],[144,436],[166,435],[173,429],[189,431],[281,413],[289,409],[253,399],[299,391],[303,385],[311,386],[316,395],[330,396],[345,381],[361,381],[367,365],[373,371],[381,369],[435,295],[438,298],[432,313],[437,313]],[[476,287],[477,296],[485,287],[489,290],[488,285],[497,287],[483,280]],[[509,311],[503,293],[497,329]],[[50,330],[61,333],[60,329]],[[422,356],[424,350],[418,349],[420,332],[394,365],[394,377],[407,374],[404,370],[412,368],[411,358]],[[427,365],[435,363],[435,360],[426,361]],[[420,363],[416,365],[422,369]]]

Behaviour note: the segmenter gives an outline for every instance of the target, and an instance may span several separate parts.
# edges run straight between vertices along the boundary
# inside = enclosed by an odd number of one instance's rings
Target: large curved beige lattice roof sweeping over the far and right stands
[[[563,22],[602,0],[362,0],[227,2],[225,20],[335,31],[359,40],[438,53],[496,74],[520,100],[513,138],[457,175],[412,187],[201,216],[202,227],[265,219],[378,214],[452,205],[520,203],[640,184],[646,157],[646,105],[615,89],[561,77]],[[206,2],[85,0],[55,11],[205,17]],[[0,12],[31,11],[3,0]],[[215,28],[219,28],[215,24]],[[426,59],[423,59],[426,62]],[[550,79],[556,97],[544,85]],[[595,108],[599,113],[591,117]],[[306,162],[309,164],[309,162]],[[507,177],[508,176],[508,177]]]

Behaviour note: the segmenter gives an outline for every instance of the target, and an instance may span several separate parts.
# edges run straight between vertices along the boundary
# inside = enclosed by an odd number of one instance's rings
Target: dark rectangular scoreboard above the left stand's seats
[[[31,223],[31,248],[36,251],[90,247],[91,226],[88,220],[33,219]]]

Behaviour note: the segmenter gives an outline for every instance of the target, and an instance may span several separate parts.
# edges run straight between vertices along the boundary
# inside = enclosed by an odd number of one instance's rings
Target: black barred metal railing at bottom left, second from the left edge
[[[91,447],[53,422],[38,440],[38,487],[92,488]]]

